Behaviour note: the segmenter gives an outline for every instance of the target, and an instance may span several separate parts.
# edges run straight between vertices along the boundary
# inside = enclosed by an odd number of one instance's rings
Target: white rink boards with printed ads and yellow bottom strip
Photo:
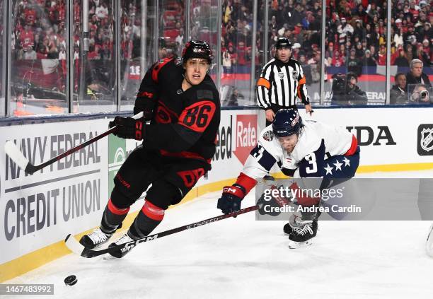
[[[433,169],[433,108],[315,111],[313,119],[346,127],[357,136],[362,148],[358,172]],[[307,118],[303,110],[301,116]],[[0,144],[14,140],[25,156],[40,164],[100,134],[107,124],[103,116],[35,124],[8,120],[0,124]],[[231,184],[263,127],[262,110],[222,111],[212,171],[183,203]],[[68,254],[62,242],[67,233],[79,235],[96,227],[112,178],[138,144],[109,136],[34,175],[25,175],[0,146],[0,282]],[[139,201],[132,210],[141,206]],[[124,228],[135,214],[128,216]]]

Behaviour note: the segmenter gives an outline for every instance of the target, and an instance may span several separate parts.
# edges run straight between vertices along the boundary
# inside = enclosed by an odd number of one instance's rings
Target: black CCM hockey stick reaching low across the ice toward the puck
[[[220,221],[220,220],[223,220],[226,218],[231,218],[233,216],[238,216],[238,215],[241,215],[243,213],[255,211],[257,209],[259,209],[258,206],[249,206],[248,208],[241,209],[241,210],[233,212],[233,213],[229,213],[229,214],[221,215],[221,216],[217,216],[217,217],[212,217],[212,218],[202,220],[199,222],[195,222],[195,223],[191,223],[188,225],[183,225],[183,226],[180,226],[179,228],[173,228],[171,230],[166,230],[166,231],[163,231],[161,233],[156,233],[154,235],[147,235],[146,237],[139,238],[137,240],[132,240],[132,241],[126,242],[126,243],[121,244],[121,245],[108,247],[108,248],[105,248],[103,250],[88,249],[88,248],[84,247],[83,245],[81,245],[73,236],[71,236],[71,234],[67,235],[67,238],[64,240],[64,242],[66,243],[69,250],[71,250],[72,252],[74,252],[76,254],[81,255],[81,257],[88,257],[88,258],[98,257],[99,255],[114,252],[116,250],[120,250],[120,249],[125,248],[125,247],[135,247],[139,243],[142,243],[142,242],[153,241],[153,240],[156,240],[158,238],[165,237],[166,235],[173,235],[173,233],[180,233],[183,230],[189,230],[191,228],[197,228],[197,226],[201,226],[201,225],[205,225],[208,223]]]

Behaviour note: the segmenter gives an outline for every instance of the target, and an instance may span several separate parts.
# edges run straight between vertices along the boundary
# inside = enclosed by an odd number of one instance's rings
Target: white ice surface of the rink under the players
[[[168,210],[158,231],[217,216],[219,194]],[[250,192],[243,207],[253,204]],[[54,283],[47,298],[433,298],[430,224],[322,221],[313,245],[290,250],[284,223],[252,212],[141,244],[123,259],[69,254],[7,283]],[[70,274],[75,286],[64,285]]]

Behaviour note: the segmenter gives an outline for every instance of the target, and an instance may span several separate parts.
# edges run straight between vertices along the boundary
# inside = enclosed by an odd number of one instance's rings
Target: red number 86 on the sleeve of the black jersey
[[[215,109],[213,102],[196,102],[183,110],[179,123],[193,131],[203,132],[211,122]]]

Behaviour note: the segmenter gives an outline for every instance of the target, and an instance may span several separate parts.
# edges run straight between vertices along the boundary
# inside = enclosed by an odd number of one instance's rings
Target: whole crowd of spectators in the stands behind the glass
[[[89,52],[93,61],[114,58],[112,0],[88,0]],[[121,55],[124,59],[139,57],[141,52],[142,1],[122,1]],[[362,76],[364,66],[386,65],[388,20],[383,0],[272,0],[267,20],[269,49],[278,37],[289,37],[293,57],[306,70],[307,83],[321,80],[321,59],[325,66],[344,67],[346,72]],[[274,52],[263,50],[265,5],[258,1],[255,64],[259,68]],[[73,1],[74,58],[79,57],[81,0]],[[185,1],[161,2],[159,57],[180,55],[184,41]],[[191,37],[207,40],[215,46],[221,38],[221,64],[224,73],[233,66],[250,66],[252,57],[253,0],[222,2],[221,37],[212,23],[216,0],[192,0]],[[66,59],[66,0],[22,0],[13,5],[11,48],[13,59]],[[325,53],[321,54],[321,19],[326,15]],[[420,59],[425,68],[433,63],[433,8],[429,0],[394,0],[391,18],[391,65],[407,72],[410,61]],[[148,24],[149,25],[149,24]],[[148,30],[151,28],[148,28]],[[148,45],[152,44],[151,34]]]

